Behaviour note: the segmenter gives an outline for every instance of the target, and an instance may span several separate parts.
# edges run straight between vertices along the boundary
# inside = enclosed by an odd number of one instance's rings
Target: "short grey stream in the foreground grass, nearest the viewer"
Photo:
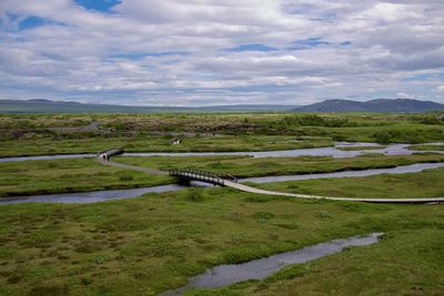
[[[186,286],[174,290],[168,290],[160,295],[181,295],[192,288],[218,288],[249,279],[263,279],[291,264],[306,263],[323,256],[340,253],[345,247],[350,246],[366,246],[375,244],[382,235],[382,233],[372,233],[369,236],[353,236],[349,238],[333,239],[326,243],[272,255],[270,257],[243,264],[216,266],[193,277]]]

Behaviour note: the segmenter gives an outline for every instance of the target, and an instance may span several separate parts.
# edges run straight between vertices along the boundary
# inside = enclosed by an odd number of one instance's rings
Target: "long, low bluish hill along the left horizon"
[[[296,105],[216,105],[216,106],[127,106],[82,104],[78,102],[33,100],[0,100],[0,113],[148,113],[148,112],[249,112],[291,111]]]

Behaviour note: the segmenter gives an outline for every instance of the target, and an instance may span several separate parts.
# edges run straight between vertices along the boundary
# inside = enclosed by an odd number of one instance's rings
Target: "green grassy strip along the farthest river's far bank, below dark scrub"
[[[69,153],[97,153],[124,146],[127,152],[231,152],[310,149],[332,145],[329,140],[296,141],[294,136],[218,135],[188,136],[180,145],[172,145],[172,135],[139,135],[91,139],[19,140],[0,142],[0,157]]]

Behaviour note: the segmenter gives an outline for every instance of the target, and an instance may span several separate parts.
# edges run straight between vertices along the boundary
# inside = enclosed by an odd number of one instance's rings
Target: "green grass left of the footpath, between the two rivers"
[[[0,164],[0,196],[132,188],[171,182],[169,176],[104,166],[93,159]]]

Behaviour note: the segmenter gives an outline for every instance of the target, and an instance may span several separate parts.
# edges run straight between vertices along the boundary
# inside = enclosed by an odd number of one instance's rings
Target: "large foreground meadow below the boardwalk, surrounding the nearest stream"
[[[206,188],[0,210],[1,295],[154,295],[214,265],[372,232],[386,237],[215,295],[286,295],[299,283],[301,292],[340,295],[384,294],[412,283],[431,294],[443,285],[436,277],[443,271],[436,259],[443,251],[442,206],[312,202]],[[375,274],[381,274],[375,280],[369,277]]]

